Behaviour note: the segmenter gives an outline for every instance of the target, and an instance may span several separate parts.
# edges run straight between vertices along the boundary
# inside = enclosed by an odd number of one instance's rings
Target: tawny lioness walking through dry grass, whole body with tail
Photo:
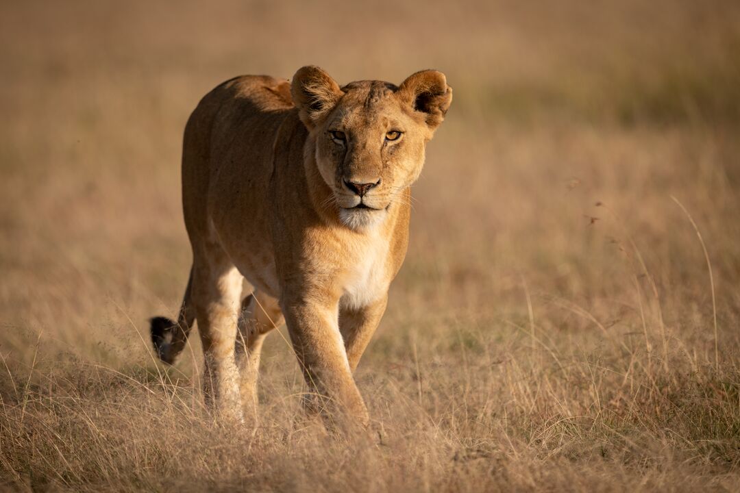
[[[292,84],[243,76],[185,127],[182,193],[192,268],[177,322],[152,319],[172,364],[198,319],[206,403],[255,412],[260,347],[286,322],[310,407],[366,425],[352,372],[408,245],[411,183],[452,101],[445,75],[340,87],[318,67]],[[255,289],[241,300],[242,280]]]

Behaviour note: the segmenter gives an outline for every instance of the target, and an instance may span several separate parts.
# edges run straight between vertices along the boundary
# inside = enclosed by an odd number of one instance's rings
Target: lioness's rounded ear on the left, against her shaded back
[[[344,95],[339,84],[314,65],[302,67],[295,72],[290,93],[298,108],[300,120],[309,130],[326,117]]]

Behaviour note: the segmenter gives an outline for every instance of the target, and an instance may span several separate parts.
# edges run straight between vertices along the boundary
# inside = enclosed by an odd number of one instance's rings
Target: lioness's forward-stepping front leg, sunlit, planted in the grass
[[[327,293],[300,293],[281,301],[290,338],[317,411],[340,425],[367,426],[369,415],[354,384],[339,331],[339,299]],[[349,421],[345,418],[349,418]]]

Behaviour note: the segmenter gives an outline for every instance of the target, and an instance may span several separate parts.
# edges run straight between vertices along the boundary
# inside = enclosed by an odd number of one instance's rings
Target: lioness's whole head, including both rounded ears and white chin
[[[326,72],[304,67],[292,93],[340,220],[355,230],[378,224],[406,200],[451,102],[445,76],[435,71],[417,72],[401,86],[360,81],[340,88]]]

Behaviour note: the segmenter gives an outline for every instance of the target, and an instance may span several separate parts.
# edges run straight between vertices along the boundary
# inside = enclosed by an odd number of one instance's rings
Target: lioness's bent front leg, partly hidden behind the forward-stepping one
[[[340,307],[339,330],[344,339],[349,368],[354,372],[388,305],[386,294],[365,307]]]

